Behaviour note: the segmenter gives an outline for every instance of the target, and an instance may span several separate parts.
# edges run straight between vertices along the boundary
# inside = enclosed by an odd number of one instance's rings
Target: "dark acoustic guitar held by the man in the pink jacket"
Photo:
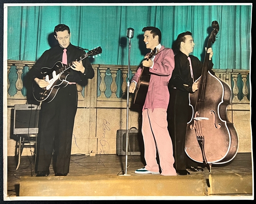
[[[156,54],[155,49],[149,54],[148,59],[152,59]],[[139,80],[137,82],[137,87],[135,90],[134,104],[143,106],[148,93],[148,86],[150,81],[151,73],[149,72],[149,67],[142,67]]]

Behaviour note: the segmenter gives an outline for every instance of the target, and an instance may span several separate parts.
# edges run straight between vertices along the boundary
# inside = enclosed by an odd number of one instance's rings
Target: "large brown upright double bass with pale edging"
[[[212,21],[212,28],[207,49],[215,42],[219,31],[217,21]],[[236,156],[238,136],[234,124],[227,118],[231,88],[208,71],[209,55],[206,53],[202,75],[196,80],[198,90],[189,95],[193,113],[187,123],[185,152],[192,160],[211,167],[211,164],[223,164]]]

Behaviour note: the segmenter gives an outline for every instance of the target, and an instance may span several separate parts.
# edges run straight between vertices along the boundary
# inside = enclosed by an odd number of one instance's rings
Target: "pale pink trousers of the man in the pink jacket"
[[[161,175],[176,175],[172,142],[167,129],[167,113],[165,108],[145,109],[142,111],[142,135],[145,146],[146,169],[158,172],[156,148],[159,153]]]

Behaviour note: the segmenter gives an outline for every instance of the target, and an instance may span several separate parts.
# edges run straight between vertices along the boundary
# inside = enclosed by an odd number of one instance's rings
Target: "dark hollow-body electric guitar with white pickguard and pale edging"
[[[88,56],[94,56],[102,52],[101,47],[97,47],[89,52],[83,54],[74,61],[80,62]],[[66,87],[69,81],[66,80],[70,74],[68,70],[72,66],[72,62],[64,65],[62,62],[56,62],[52,68],[43,67],[41,68],[41,74],[45,75],[43,79],[49,83],[45,88],[40,88],[36,82],[33,82],[33,95],[34,98],[39,102],[49,103],[56,96],[59,88]]]

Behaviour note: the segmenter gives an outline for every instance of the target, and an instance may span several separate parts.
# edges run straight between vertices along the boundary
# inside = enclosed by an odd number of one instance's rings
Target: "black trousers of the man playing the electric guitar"
[[[69,173],[76,110],[76,84],[60,88],[51,102],[42,103],[39,115],[39,150],[36,155],[37,171],[49,169],[54,152],[55,171]]]

